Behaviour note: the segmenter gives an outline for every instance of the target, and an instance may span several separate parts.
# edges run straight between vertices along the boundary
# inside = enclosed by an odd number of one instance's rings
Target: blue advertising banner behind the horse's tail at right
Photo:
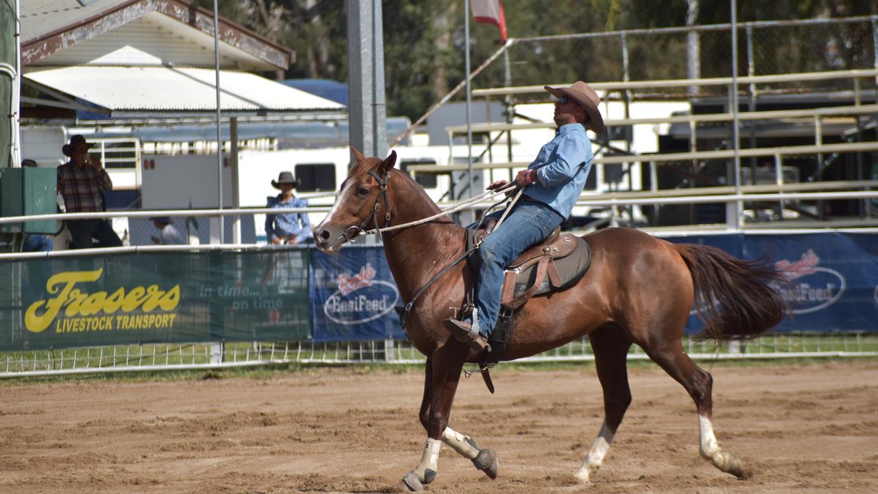
[[[713,245],[788,272],[784,298],[792,312],[774,331],[878,331],[878,235],[737,234],[666,240]],[[701,327],[690,317],[687,332]]]

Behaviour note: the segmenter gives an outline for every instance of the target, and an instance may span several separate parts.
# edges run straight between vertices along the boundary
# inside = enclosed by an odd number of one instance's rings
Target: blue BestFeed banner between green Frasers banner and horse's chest
[[[313,341],[406,338],[394,306],[405,302],[380,246],[311,256]]]

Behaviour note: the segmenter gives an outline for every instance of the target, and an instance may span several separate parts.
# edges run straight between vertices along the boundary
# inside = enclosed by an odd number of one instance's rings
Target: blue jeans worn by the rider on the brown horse
[[[498,216],[502,212],[491,214]],[[485,242],[479,246],[481,267],[476,277],[476,309],[479,309],[479,333],[487,337],[500,315],[500,289],[503,271],[525,249],[543,242],[564,218],[551,207],[519,200]]]

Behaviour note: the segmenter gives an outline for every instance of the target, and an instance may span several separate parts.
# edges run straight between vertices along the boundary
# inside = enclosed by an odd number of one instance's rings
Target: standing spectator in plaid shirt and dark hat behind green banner
[[[101,163],[89,159],[89,148],[94,144],[85,142],[82,135],[70,137],[70,143],[61,152],[70,161],[58,167],[58,193],[64,198],[68,213],[98,213],[101,207],[100,193],[112,190],[112,180]],[[67,220],[67,228],[73,237],[72,249],[91,247],[119,247],[122,241],[112,230],[110,222],[102,219]],[[92,243],[92,238],[97,244]]]

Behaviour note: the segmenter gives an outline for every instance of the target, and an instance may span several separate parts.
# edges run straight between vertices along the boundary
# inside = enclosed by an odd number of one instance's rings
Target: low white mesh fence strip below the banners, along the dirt
[[[833,331],[826,333],[767,334],[747,343],[716,345],[683,341],[694,360],[774,360],[803,358],[878,357],[878,333]],[[221,361],[210,344],[127,345],[74,348],[61,351],[0,353],[0,378],[64,374],[222,369],[283,364],[407,365],[426,358],[407,340],[341,343],[253,342],[228,343]],[[629,360],[649,360],[637,346]],[[594,353],[587,338],[580,338],[550,352],[516,362],[591,362]]]

